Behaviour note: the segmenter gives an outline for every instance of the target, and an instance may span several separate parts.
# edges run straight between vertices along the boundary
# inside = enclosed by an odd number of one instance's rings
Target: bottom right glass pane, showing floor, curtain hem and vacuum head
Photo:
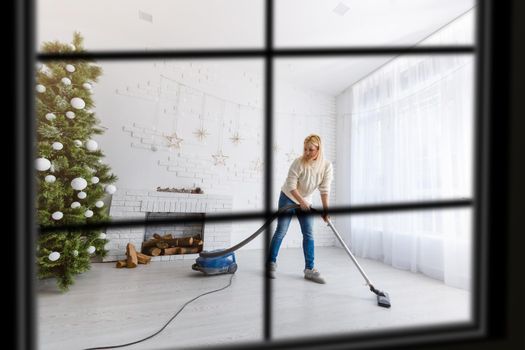
[[[327,236],[328,243],[318,240],[315,231],[315,268],[326,283],[303,279],[303,249],[288,240],[280,250],[273,284],[276,339],[473,321],[470,209],[338,215],[332,221],[366,278],[388,294],[391,307],[378,305],[377,295],[335,234]],[[288,235],[301,237],[301,231],[291,227]]]

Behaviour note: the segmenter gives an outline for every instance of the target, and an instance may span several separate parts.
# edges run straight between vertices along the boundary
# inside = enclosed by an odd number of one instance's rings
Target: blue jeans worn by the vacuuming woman
[[[279,209],[290,204],[295,204],[290,198],[288,198],[283,192],[279,196]],[[288,227],[290,226],[290,221],[292,221],[292,215],[297,215],[299,219],[299,224],[301,225],[301,232],[303,234],[303,253],[304,253],[304,262],[306,269],[314,268],[314,217],[311,215],[304,215],[300,208],[290,209],[286,212],[286,215],[282,215],[277,219],[277,228],[273,234],[272,241],[270,243],[270,256],[268,257],[268,262],[276,262],[277,254],[279,253],[279,248],[283,241],[286,232],[288,232]]]

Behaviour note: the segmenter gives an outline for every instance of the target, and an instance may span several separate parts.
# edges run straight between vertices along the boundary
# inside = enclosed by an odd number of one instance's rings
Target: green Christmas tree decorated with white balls
[[[83,38],[72,43],[47,42],[44,53],[82,52]],[[92,108],[92,86],[102,69],[88,60],[39,64],[36,72],[36,206],[41,226],[84,224],[108,218],[103,199],[116,188],[116,176],[102,162],[93,135],[104,130]],[[55,277],[66,291],[75,275],[89,270],[91,259],[104,256],[107,240],[100,230],[41,233],[38,276]]]

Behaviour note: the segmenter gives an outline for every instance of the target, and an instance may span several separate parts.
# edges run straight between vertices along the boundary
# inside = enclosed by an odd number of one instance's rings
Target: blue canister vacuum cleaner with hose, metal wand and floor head
[[[288,206],[285,206],[283,208],[280,208],[277,212],[275,212],[266,222],[264,225],[262,225],[257,231],[255,231],[250,237],[246,238],[245,240],[241,241],[240,243],[228,248],[228,249],[218,249],[218,250],[212,250],[212,251],[202,251],[199,253],[199,257],[197,258],[195,264],[193,264],[192,269],[196,271],[200,271],[206,275],[217,275],[217,274],[225,274],[225,273],[235,273],[237,271],[237,263],[235,262],[235,254],[234,252],[241,248],[242,246],[246,245],[248,242],[253,240],[255,237],[257,237],[261,232],[264,231],[264,229],[271,224],[273,220],[275,220],[279,215],[284,213],[287,210],[291,209],[297,209],[300,208],[300,205],[298,204],[291,204]],[[314,208],[311,208],[312,211],[317,212],[320,214],[320,212]],[[381,291],[374,287],[374,284],[370,281],[368,276],[366,275],[365,271],[359,265],[357,262],[357,259],[354,257],[352,252],[350,251],[350,248],[346,245],[346,243],[343,241],[343,238],[337,232],[336,228],[332,224],[332,221],[328,219],[328,226],[332,229],[332,232],[335,234],[337,239],[339,240],[339,243],[343,246],[346,253],[350,256],[350,259],[354,262],[357,269],[361,273],[361,276],[366,281],[366,285],[370,288],[370,291],[374,293],[377,297],[377,305],[385,308],[389,308],[391,306],[390,304],[390,296],[387,292]]]

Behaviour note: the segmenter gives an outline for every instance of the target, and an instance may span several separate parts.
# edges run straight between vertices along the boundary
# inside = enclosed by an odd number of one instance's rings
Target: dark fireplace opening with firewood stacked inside
[[[204,213],[146,213],[146,219],[199,218]],[[144,231],[141,251],[149,256],[196,254],[204,246],[204,221],[202,223],[173,223],[150,225]]]

